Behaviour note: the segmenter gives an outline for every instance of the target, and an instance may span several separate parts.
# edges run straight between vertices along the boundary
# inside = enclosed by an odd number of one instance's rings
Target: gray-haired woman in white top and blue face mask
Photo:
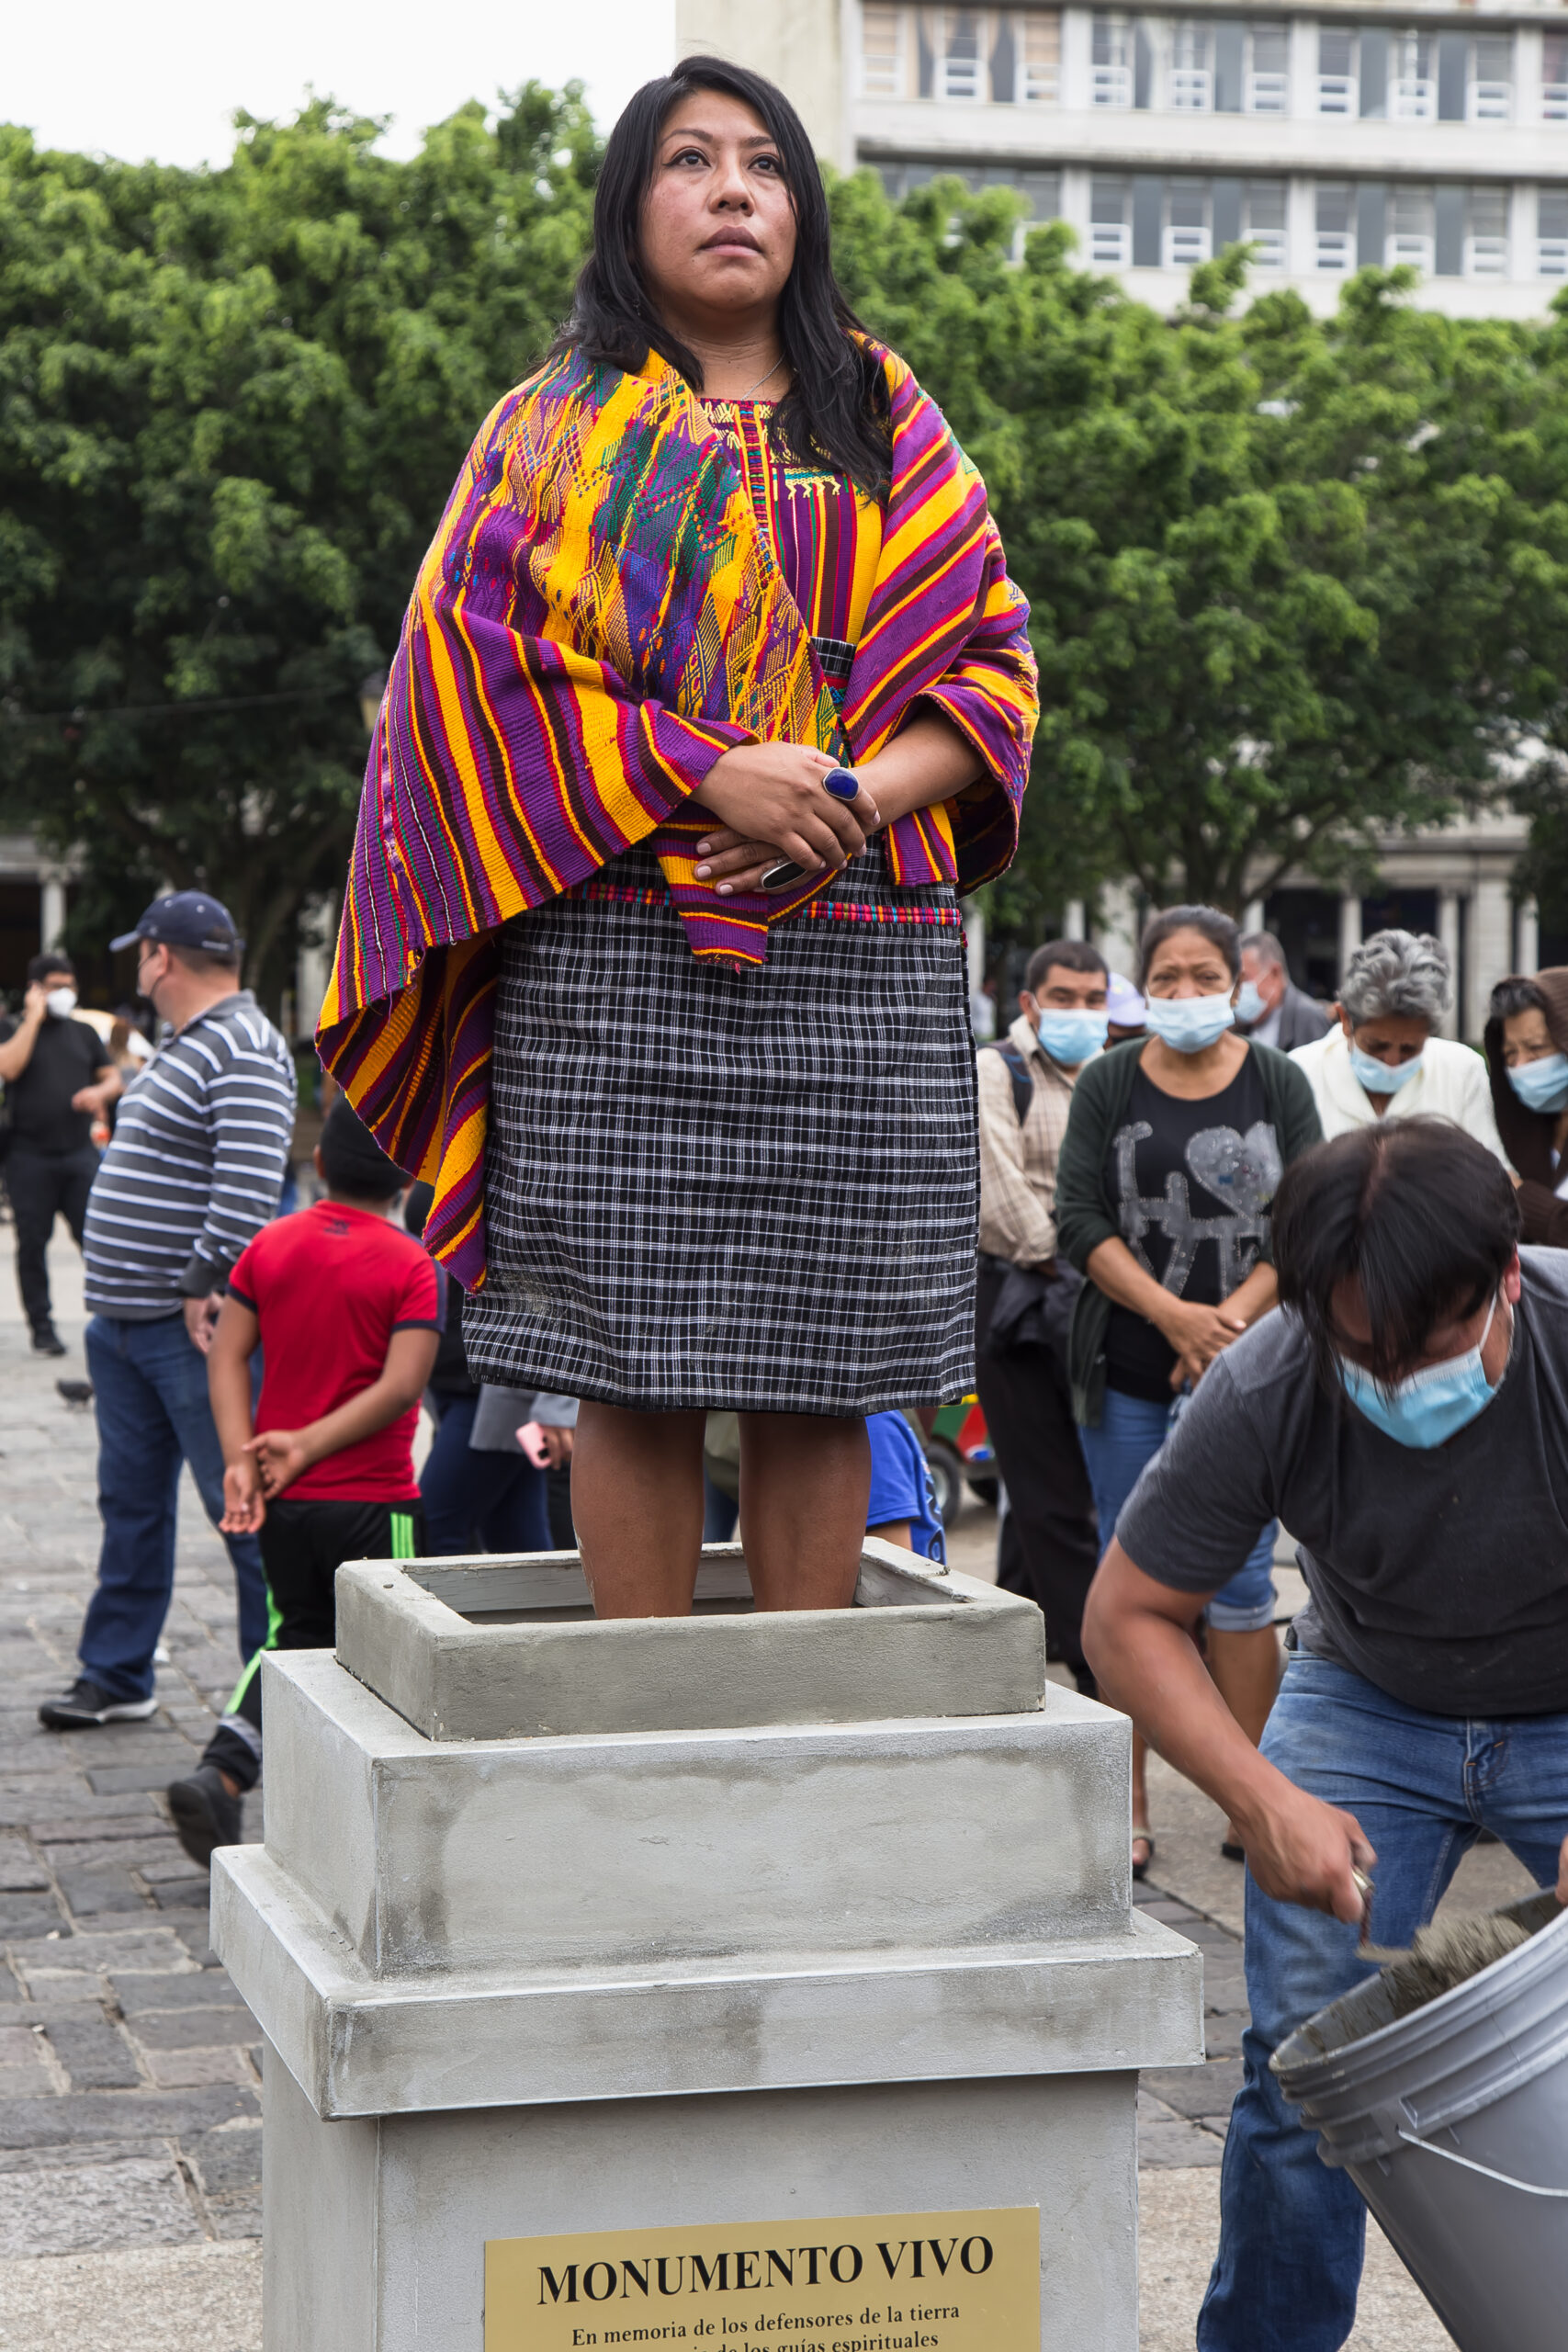
[[[1312,1082],[1324,1138],[1375,1120],[1441,1117],[1507,1167],[1486,1065],[1467,1044],[1439,1037],[1453,1002],[1441,941],[1429,931],[1373,931],[1345,967],[1338,1025],[1295,1049]]]

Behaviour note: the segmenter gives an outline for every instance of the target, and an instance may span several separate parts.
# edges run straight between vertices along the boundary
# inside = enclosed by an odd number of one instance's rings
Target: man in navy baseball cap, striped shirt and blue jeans
[[[87,1197],[87,1371],[99,1414],[99,1585],[80,1675],[38,1710],[49,1731],[153,1715],[153,1651],[174,1590],[181,1463],[223,1517],[223,1451],[207,1348],[228,1270],[277,1214],[294,1134],[294,1061],[240,988],[242,938],[200,889],[155,898],[134,931],[136,990],[162,1021],[158,1054],[120,1098]],[[254,1536],[226,1536],[240,1656],[266,1642]]]

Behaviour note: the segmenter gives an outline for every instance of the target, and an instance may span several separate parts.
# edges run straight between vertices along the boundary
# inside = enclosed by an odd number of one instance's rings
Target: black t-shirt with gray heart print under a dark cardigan
[[[1246,1282],[1269,1232],[1284,1171],[1258,1061],[1229,1087],[1185,1103],[1143,1070],[1110,1138],[1105,1188],[1121,1240],[1145,1272],[1192,1305],[1215,1308]],[[1110,1310],[1105,1383],[1128,1397],[1171,1402],[1175,1350],[1131,1308]]]

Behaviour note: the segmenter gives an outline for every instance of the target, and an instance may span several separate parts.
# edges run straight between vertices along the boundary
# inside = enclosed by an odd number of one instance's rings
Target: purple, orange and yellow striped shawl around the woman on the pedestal
[[[842,731],[738,468],[658,353],[552,360],[491,412],[458,475],[371,736],[322,1007],[324,1065],[393,1160],[435,1183],[425,1242],[484,1279],[498,927],[654,840],[696,955],[759,964],[825,887],[724,898],[689,809],[736,743],[870,757],[922,699],[985,781],[889,833],[905,887],[973,889],[1013,856],[1034,734],[1027,604],[980,475],[882,353],[893,463]]]

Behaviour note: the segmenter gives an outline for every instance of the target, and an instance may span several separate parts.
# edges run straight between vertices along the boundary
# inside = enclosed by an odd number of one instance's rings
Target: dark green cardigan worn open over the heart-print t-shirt
[[[1100,1242],[1119,1242],[1117,1204],[1105,1190],[1105,1162],[1110,1138],[1126,1117],[1126,1105],[1138,1077],[1138,1058],[1145,1040],[1128,1037],[1126,1044],[1110,1047],[1086,1061],[1072,1087],[1072,1115],[1063,1136],[1056,1164],[1056,1247],[1079,1272],[1088,1265],[1091,1251]],[[1288,1054],[1272,1044],[1251,1049],[1258,1058],[1262,1098],[1269,1124],[1279,1138],[1279,1157],[1286,1167],[1324,1141],[1316,1117],[1316,1101],[1307,1073]],[[1272,1242],[1265,1240],[1262,1258],[1274,1258]],[[1093,1282],[1084,1282],[1072,1310],[1072,1338],[1067,1364],[1072,1374],[1072,1414],[1084,1428],[1098,1428],[1105,1409],[1105,1327],[1110,1324],[1110,1298]]]

